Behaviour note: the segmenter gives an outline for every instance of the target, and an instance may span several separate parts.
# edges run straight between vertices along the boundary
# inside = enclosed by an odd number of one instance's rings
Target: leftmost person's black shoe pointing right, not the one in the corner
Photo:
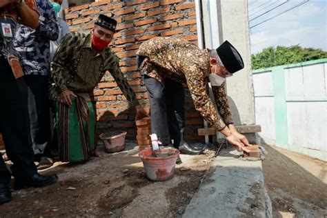
[[[57,175],[40,175],[34,174],[30,178],[14,179],[14,190],[23,188],[39,188],[43,186],[50,186],[58,181]]]

